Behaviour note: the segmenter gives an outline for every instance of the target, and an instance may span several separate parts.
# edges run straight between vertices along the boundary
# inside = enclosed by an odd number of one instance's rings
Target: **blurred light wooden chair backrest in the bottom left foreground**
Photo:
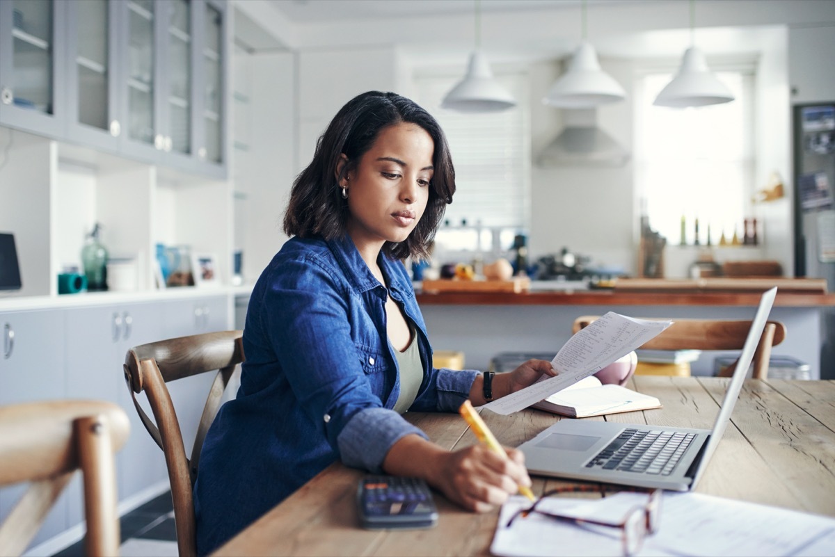
[[[29,482],[0,524],[0,555],[20,555],[75,470],[83,475],[87,555],[119,554],[114,453],[130,422],[116,404],[55,400],[0,407],[0,486]]]

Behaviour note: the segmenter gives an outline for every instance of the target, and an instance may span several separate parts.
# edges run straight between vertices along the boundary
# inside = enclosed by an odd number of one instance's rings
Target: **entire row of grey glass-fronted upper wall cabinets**
[[[226,178],[224,0],[0,3],[0,124]]]

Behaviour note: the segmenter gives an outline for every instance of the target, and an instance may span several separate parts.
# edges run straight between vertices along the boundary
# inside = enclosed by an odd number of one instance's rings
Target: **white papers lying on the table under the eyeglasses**
[[[647,495],[631,492],[605,499],[551,498],[541,508],[574,518],[619,524]],[[621,530],[607,526],[561,522],[541,514],[514,520],[530,501],[514,496],[499,514],[490,552],[501,557],[560,555],[622,555]],[[695,493],[662,496],[660,528],[648,534],[638,553],[647,555],[824,556],[835,554],[835,519],[819,514]]]

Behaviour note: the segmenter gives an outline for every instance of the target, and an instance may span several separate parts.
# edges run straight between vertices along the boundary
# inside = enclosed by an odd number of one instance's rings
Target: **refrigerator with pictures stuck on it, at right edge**
[[[795,276],[835,292],[835,101],[795,105]],[[835,379],[835,308],[822,309],[821,379]]]

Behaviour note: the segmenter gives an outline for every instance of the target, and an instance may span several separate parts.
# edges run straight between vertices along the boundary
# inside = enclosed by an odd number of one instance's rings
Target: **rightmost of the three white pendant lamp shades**
[[[704,107],[730,103],[733,99],[731,89],[707,68],[701,50],[691,47],[685,51],[678,73],[661,89],[653,104],[672,108]]]

